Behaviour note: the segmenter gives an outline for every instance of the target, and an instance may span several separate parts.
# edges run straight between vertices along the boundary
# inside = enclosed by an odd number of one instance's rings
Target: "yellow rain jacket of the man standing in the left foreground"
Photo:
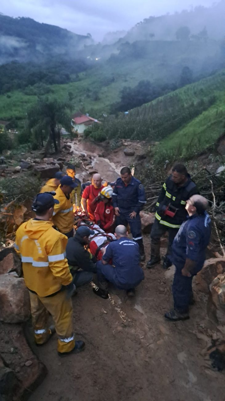
[[[60,291],[72,281],[65,257],[67,238],[52,222],[30,219],[16,231],[26,287],[40,297]]]

